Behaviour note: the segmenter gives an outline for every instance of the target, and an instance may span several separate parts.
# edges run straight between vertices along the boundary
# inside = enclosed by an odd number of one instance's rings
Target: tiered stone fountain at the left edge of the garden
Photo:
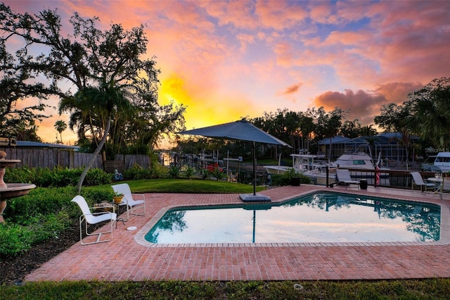
[[[6,159],[6,152],[0,151],[0,224],[5,223],[3,212],[6,208],[6,200],[24,196],[34,189],[36,185],[30,183],[6,183],[4,182],[5,168],[20,163],[18,159]]]

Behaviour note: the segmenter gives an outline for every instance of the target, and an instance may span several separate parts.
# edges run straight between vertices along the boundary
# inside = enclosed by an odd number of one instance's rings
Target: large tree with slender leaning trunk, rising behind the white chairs
[[[143,58],[148,44],[143,25],[124,30],[122,25],[113,24],[102,31],[96,27],[98,18],[82,18],[75,13],[70,18],[72,35],[63,35],[56,11],[20,14],[4,4],[0,4],[0,21],[4,40],[20,37],[25,41],[19,59],[25,63],[27,56],[27,68],[50,81],[53,94],[62,99],[60,112],[74,114],[70,127],[77,126],[80,138],[90,137],[97,145],[93,159],[80,177],[78,192],[87,170],[105,145],[114,118],[118,120],[129,108],[134,109],[134,118],[145,118],[167,109],[160,108],[157,102],[160,70],[155,68],[153,58]],[[46,51],[36,57],[28,56],[28,49],[35,45]],[[62,82],[70,82],[75,91],[63,89]],[[183,106],[178,110],[181,113],[171,123],[172,127],[184,125],[179,122],[183,120]]]

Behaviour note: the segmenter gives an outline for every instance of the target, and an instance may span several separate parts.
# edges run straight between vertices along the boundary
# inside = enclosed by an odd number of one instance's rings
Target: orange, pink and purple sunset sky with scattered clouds
[[[185,104],[187,129],[278,108],[349,108],[373,123],[383,104],[450,76],[450,1],[4,1],[14,11],[58,8],[98,27],[146,25],[161,70],[159,101]],[[49,104],[58,106],[58,99]],[[38,135],[55,142],[56,120]],[[63,142],[75,141],[70,130]]]

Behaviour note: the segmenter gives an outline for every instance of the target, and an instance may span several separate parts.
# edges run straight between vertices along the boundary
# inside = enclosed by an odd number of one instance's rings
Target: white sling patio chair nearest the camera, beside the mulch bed
[[[101,213],[91,213],[91,209],[94,209],[94,207],[89,207],[86,203],[86,199],[83,198],[83,196],[75,196],[74,199],[72,199],[72,202],[75,202],[78,204],[79,208],[82,210],[82,215],[79,216],[79,242],[82,243],[82,245],[89,245],[89,244],[97,244],[97,243],[103,243],[108,242],[111,239],[103,239],[101,240],[101,235],[103,233],[110,233],[111,238],[113,237],[113,225],[115,224],[115,221],[117,219],[116,213],[111,213],[110,211],[103,211]],[[101,208],[101,206],[96,206],[97,208]],[[97,224],[104,221],[110,221],[110,230],[109,231],[103,231],[103,232],[97,232],[97,233],[89,233],[87,230],[88,224]],[[97,239],[95,242],[89,242],[89,243],[83,243],[83,237],[82,237],[82,225],[85,223],[86,227],[86,235],[96,235]]]

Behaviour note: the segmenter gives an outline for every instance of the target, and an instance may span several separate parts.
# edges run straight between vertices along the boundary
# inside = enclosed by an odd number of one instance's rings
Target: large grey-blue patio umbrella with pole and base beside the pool
[[[255,143],[274,144],[280,146],[289,146],[281,139],[269,135],[258,127],[248,123],[247,120],[238,120],[236,122],[213,125],[193,130],[178,132],[181,135],[202,135],[203,137],[213,137],[217,139],[236,139],[240,141],[252,142],[253,157],[253,194],[240,194],[243,201],[270,201],[271,199],[262,194],[256,194],[256,158]]]

